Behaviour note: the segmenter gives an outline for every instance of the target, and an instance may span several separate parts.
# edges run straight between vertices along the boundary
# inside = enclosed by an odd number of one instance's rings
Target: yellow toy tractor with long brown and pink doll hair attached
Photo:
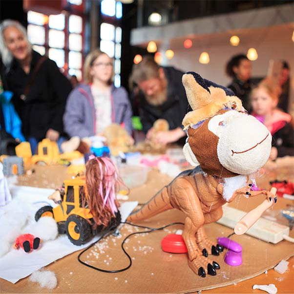
[[[122,182],[109,158],[91,159],[86,164],[84,177],[65,180],[64,188],[49,196],[59,205],[42,207],[36,212],[35,220],[43,216],[53,217],[59,233],[66,233],[73,244],[83,245],[93,235],[120,224],[121,216],[115,200],[120,184]]]

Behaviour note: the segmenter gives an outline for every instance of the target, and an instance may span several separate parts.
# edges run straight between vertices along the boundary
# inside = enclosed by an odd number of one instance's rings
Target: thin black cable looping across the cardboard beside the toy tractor
[[[121,273],[121,272],[124,272],[126,271],[127,269],[129,269],[132,265],[132,259],[131,257],[129,256],[129,254],[126,252],[125,248],[124,248],[124,244],[126,242],[126,240],[132,236],[132,235],[135,235],[135,234],[142,234],[142,233],[148,233],[148,232],[151,232],[151,231],[161,231],[161,230],[164,230],[165,228],[168,228],[168,227],[171,227],[171,226],[174,226],[174,225],[184,225],[184,223],[171,223],[171,224],[168,224],[164,227],[161,227],[161,228],[150,228],[150,227],[145,227],[145,226],[139,226],[139,225],[134,225],[134,224],[131,224],[131,223],[128,223],[128,222],[121,222],[121,224],[126,224],[126,225],[130,225],[130,226],[133,226],[133,227],[138,227],[138,228],[142,228],[142,229],[148,229],[149,231],[139,231],[139,232],[134,232],[134,233],[131,233],[129,235],[126,236],[126,238],[124,239],[124,241],[122,242],[122,249],[123,249],[123,252],[126,254],[126,257],[128,258],[129,260],[129,265],[126,266],[125,268],[123,269],[120,269],[120,270],[114,270],[114,271],[107,271],[107,270],[103,270],[103,269],[100,269],[100,268],[96,268],[92,265],[89,265],[87,263],[85,263],[84,261],[81,260],[81,255],[86,252],[88,249],[90,249],[91,247],[93,247],[97,242],[99,242],[102,238],[104,238],[108,233],[109,231],[107,231],[103,236],[101,236],[97,241],[95,241],[94,243],[92,243],[90,246],[88,246],[87,248],[85,248],[82,252],[80,252],[80,254],[78,255],[78,261],[80,263],[82,263],[83,265],[85,265],[86,267],[89,267],[93,270],[96,270],[96,271],[99,271],[99,272],[103,272],[103,273]]]

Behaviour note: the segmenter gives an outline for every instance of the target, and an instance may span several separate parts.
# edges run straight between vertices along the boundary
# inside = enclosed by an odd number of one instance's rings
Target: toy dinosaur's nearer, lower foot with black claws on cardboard
[[[194,273],[201,277],[206,277],[207,274],[216,275],[215,270],[219,270],[220,266],[217,262],[211,261],[204,256],[197,256],[194,260],[189,261],[189,267]]]

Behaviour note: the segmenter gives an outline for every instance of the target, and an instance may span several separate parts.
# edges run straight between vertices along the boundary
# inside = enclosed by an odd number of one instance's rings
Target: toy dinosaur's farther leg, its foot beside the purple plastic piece
[[[205,223],[210,224],[217,221],[222,217],[222,213],[223,210],[220,207],[217,210],[204,214]],[[203,227],[199,228],[197,231],[196,243],[204,256],[208,256],[208,254],[219,255],[219,253],[224,250],[222,246],[218,245],[216,242],[212,242],[207,237]]]

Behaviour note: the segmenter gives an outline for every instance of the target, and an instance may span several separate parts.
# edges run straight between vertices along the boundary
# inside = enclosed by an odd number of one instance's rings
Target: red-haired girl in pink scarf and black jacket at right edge
[[[290,114],[276,108],[278,104],[278,87],[264,80],[252,90],[252,115],[262,122],[273,136],[270,159],[286,155],[294,156],[294,133],[290,125]]]

